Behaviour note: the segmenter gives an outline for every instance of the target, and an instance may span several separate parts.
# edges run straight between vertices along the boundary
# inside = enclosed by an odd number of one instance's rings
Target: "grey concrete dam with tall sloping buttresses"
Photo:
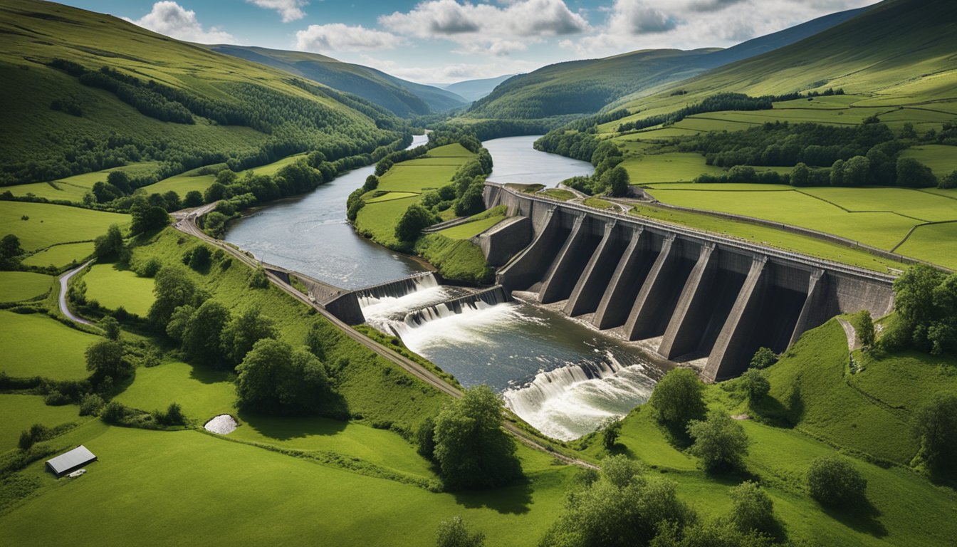
[[[508,218],[474,239],[506,292],[646,341],[705,380],[738,376],[761,347],[784,352],[838,313],[893,306],[893,280],[679,226],[487,183]]]

